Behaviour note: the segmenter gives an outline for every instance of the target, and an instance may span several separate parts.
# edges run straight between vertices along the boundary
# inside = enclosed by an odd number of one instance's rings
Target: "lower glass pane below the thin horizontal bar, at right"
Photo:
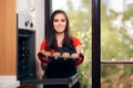
[[[133,65],[101,65],[101,88],[133,88]]]

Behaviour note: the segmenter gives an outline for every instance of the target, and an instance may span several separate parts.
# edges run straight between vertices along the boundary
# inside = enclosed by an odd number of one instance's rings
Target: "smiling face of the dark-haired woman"
[[[66,19],[63,13],[55,14],[53,19],[53,26],[57,33],[62,33],[66,26]]]

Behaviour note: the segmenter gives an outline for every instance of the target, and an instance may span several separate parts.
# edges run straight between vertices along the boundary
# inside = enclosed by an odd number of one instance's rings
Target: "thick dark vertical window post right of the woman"
[[[100,2],[101,0],[92,0],[92,88],[101,87]]]

